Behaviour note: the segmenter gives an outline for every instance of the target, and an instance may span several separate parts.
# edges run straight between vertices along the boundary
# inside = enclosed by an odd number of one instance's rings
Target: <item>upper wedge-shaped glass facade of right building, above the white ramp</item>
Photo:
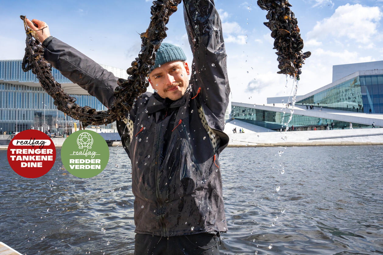
[[[353,112],[383,113],[383,75],[361,75],[296,104]]]

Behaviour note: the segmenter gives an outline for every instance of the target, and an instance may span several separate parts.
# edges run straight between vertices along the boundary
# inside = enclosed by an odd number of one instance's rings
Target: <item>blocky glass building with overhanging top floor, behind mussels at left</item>
[[[26,129],[51,133],[70,134],[70,128],[78,121],[57,110],[53,99],[41,88],[36,75],[31,71],[23,72],[21,60],[0,60],[0,134],[20,132]],[[125,70],[101,65],[119,78],[128,78]],[[96,110],[106,110],[95,97],[73,84],[61,73],[52,68],[52,75],[61,83],[64,91],[77,99],[80,106],[90,106]],[[152,92],[152,89],[148,89]],[[100,128],[111,128],[108,124]]]

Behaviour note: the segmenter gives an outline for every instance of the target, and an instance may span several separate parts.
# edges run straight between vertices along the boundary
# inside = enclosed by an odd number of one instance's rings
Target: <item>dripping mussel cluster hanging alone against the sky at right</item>
[[[272,32],[274,48],[278,50],[278,68],[283,73],[296,77],[302,73],[301,67],[304,59],[310,57],[311,52],[302,53],[303,40],[301,38],[298,21],[294,13],[290,10],[291,4],[287,0],[258,0],[258,6],[267,11],[264,22]]]

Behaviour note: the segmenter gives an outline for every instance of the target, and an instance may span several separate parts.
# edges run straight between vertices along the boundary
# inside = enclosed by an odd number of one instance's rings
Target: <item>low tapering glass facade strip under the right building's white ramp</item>
[[[232,106],[231,116],[234,119],[238,119],[253,125],[260,127],[280,130],[286,128],[286,123],[290,119],[289,113],[283,114],[283,112],[273,112],[268,110],[260,110],[249,107],[242,106]],[[293,114],[289,127],[294,125],[295,130],[312,130],[313,128],[326,129],[326,124],[334,122],[334,128],[344,129],[349,128],[349,122],[343,122],[338,120],[331,119],[322,119],[318,117],[303,116],[298,114]],[[364,128],[371,127],[368,125],[352,123],[353,128]]]

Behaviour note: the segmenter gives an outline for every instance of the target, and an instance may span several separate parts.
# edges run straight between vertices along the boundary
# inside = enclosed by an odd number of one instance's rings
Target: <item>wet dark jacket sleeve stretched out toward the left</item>
[[[109,107],[113,103],[118,78],[92,59],[54,37],[44,50],[44,58],[104,106]]]

